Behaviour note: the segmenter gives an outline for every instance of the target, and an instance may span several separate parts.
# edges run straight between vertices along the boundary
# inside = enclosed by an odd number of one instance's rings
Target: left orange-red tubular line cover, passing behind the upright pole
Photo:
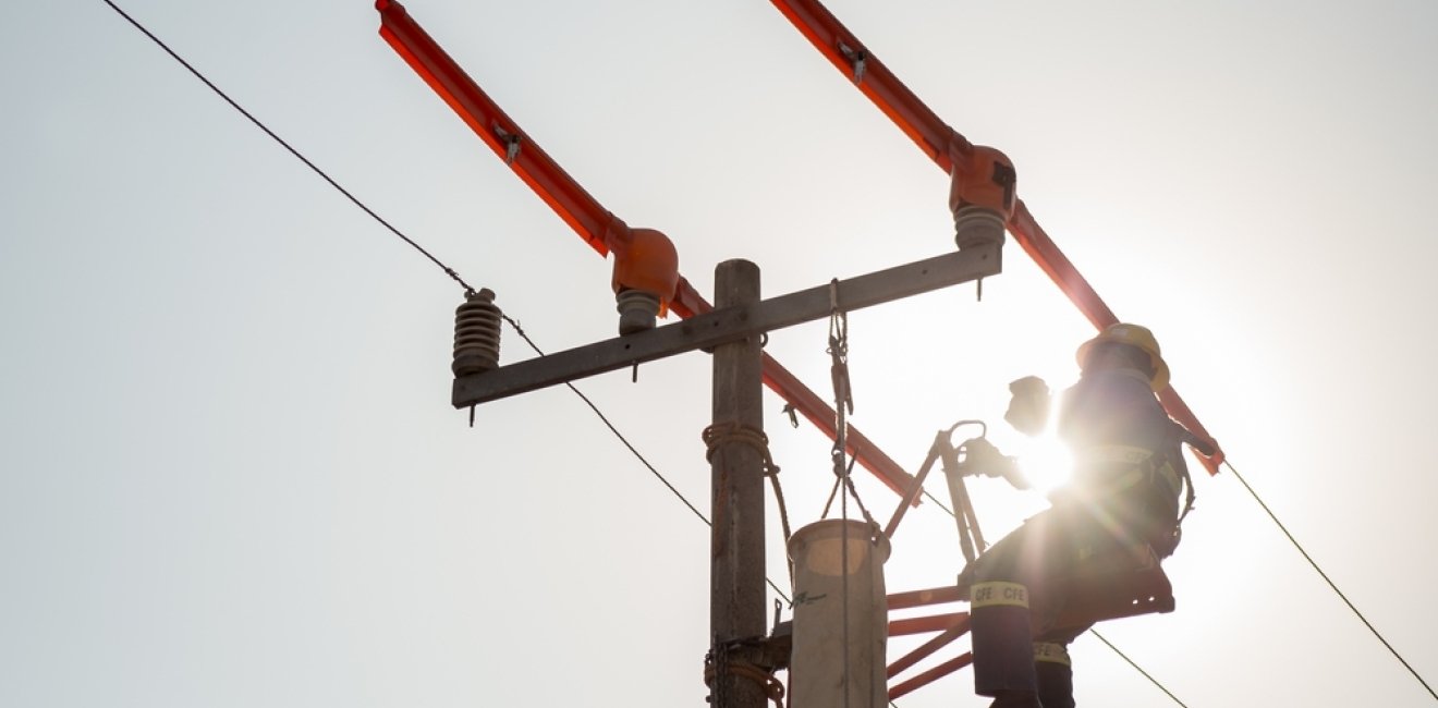
[[[400,3],[378,0],[374,6],[380,10],[380,36],[590,248],[603,256],[624,246],[630,227],[529,140]],[[670,309],[687,318],[709,312],[713,307],[689,281],[680,278]],[[834,409],[768,354],[764,355],[764,383],[830,439],[838,435]],[[848,452],[858,463],[894,492],[902,495],[913,482],[912,475],[854,427],[848,429],[847,440]]]

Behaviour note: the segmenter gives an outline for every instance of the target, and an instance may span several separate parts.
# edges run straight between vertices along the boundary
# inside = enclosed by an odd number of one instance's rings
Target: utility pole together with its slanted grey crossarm
[[[457,374],[450,401],[466,409],[644,361],[713,353],[712,524],[709,648],[712,708],[764,708],[764,368],[759,342],[771,331],[853,312],[998,275],[1002,242],[915,260],[846,281],[759,299],[759,266],[726,260],[715,269],[712,312],[653,330],[585,344],[482,373]],[[486,301],[487,302],[487,301]],[[499,311],[489,305],[498,342]],[[475,325],[467,321],[466,325]],[[746,665],[746,666],[745,666]]]

